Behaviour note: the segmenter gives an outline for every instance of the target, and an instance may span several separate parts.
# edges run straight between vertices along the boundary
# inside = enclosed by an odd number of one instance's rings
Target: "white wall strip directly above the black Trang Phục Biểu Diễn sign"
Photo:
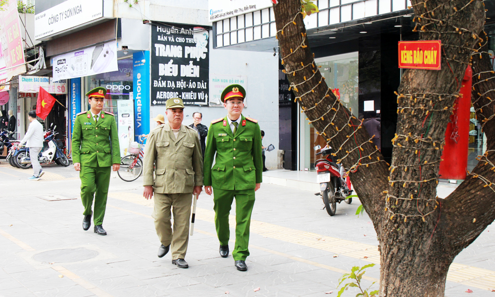
[[[207,0],[139,0],[132,7],[127,2],[119,1],[114,5],[113,15],[119,18],[211,26],[208,22]]]

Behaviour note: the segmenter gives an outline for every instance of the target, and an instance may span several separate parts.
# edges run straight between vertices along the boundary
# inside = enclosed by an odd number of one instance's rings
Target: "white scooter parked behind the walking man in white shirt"
[[[43,149],[40,152],[38,159],[40,164],[52,164],[55,162],[58,165],[67,167],[69,166],[69,159],[55,143],[55,135],[58,134],[54,132],[55,127],[53,130],[48,130],[45,132]],[[12,161],[9,162],[11,165],[14,163],[14,167],[21,169],[28,169],[32,167],[29,150],[26,147],[17,149],[17,146],[15,146],[15,148],[11,148],[10,152],[12,153],[12,156],[10,157]]]

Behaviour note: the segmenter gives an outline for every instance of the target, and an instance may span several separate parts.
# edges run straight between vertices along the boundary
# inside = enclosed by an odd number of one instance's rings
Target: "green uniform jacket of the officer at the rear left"
[[[72,162],[81,166],[120,164],[117,124],[113,114],[101,111],[98,122],[90,111],[77,115],[72,131]],[[88,118],[89,117],[89,118]],[[110,144],[111,143],[111,144]]]

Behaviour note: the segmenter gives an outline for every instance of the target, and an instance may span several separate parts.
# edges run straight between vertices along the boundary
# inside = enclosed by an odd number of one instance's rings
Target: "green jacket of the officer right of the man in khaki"
[[[247,190],[254,189],[256,184],[262,182],[259,125],[255,120],[246,119],[243,115],[241,117],[235,136],[227,117],[218,122],[213,121],[210,125],[203,164],[205,186],[222,190]],[[243,123],[246,125],[243,126]],[[213,157],[215,165],[212,166]]]

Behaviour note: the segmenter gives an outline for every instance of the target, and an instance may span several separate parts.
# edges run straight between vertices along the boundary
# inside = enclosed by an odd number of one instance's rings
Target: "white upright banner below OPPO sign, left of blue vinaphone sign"
[[[119,131],[120,157],[127,155],[129,142],[134,140],[134,102],[117,100],[117,127]]]

